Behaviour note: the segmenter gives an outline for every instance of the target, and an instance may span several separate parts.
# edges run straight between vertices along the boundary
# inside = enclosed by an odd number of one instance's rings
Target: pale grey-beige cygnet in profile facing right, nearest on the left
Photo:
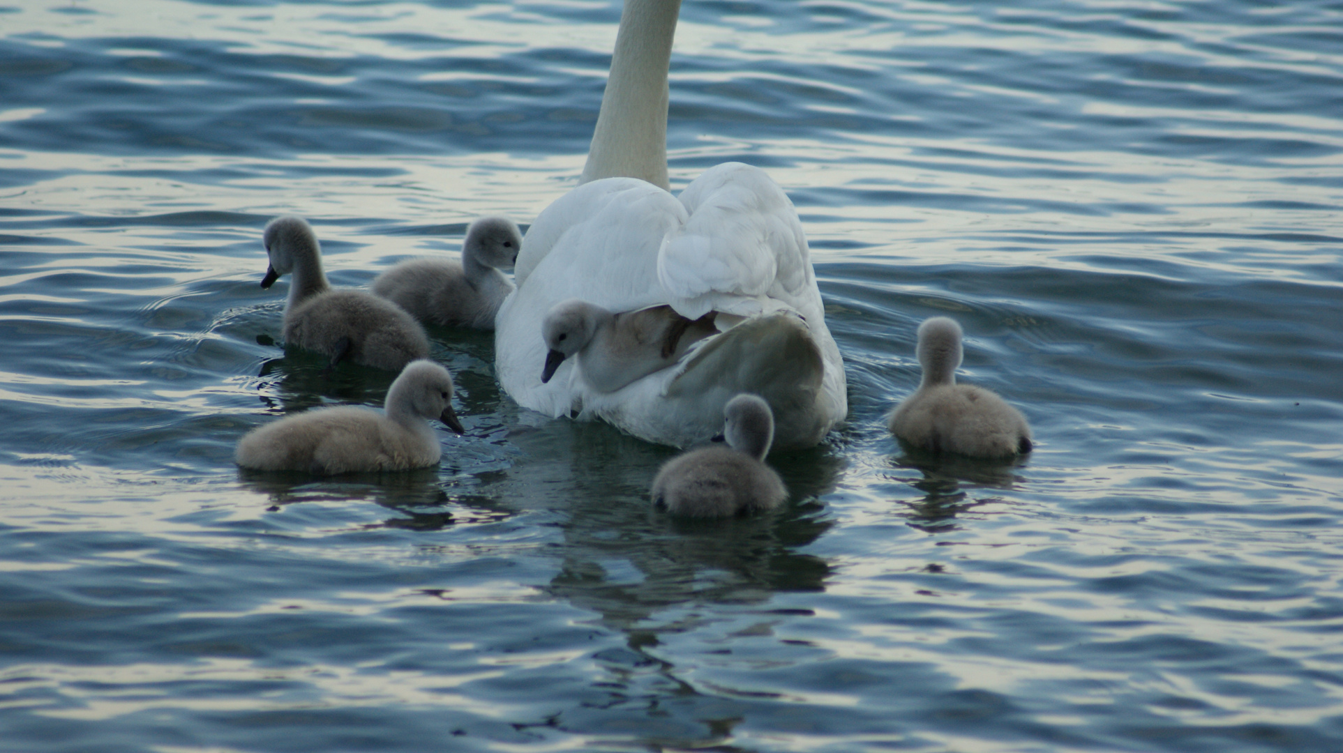
[[[424,419],[465,432],[453,411],[453,377],[430,360],[410,362],[387,391],[385,411],[317,408],[250,431],[234,460],[261,471],[404,471],[438,464],[438,436]]]

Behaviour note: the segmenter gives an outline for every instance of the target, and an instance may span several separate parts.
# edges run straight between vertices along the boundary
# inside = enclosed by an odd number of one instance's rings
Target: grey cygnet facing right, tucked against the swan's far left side
[[[513,291],[497,267],[512,267],[521,247],[513,220],[481,217],[466,228],[461,262],[408,259],[377,275],[372,291],[422,322],[494,329],[494,314]]]

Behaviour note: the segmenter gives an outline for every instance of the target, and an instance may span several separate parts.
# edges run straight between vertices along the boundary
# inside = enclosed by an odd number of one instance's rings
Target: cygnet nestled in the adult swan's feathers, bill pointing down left
[[[576,354],[579,372],[591,389],[615,392],[676,364],[692,344],[716,334],[713,317],[710,311],[688,319],[672,306],[612,314],[577,298],[563,301],[541,322],[549,349],[541,381],[551,381],[555,369]]]

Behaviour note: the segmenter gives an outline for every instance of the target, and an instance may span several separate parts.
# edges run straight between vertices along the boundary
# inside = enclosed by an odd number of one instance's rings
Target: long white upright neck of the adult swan
[[[667,181],[667,66],[681,0],[624,0],[611,75],[579,183],[637,177]]]

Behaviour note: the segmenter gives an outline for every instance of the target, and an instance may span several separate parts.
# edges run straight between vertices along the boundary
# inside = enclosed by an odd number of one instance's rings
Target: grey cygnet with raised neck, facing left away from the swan
[[[325,353],[332,366],[349,358],[391,372],[428,356],[424,328],[399,306],[361,290],[332,290],[317,235],[302,217],[275,217],[263,240],[270,267],[261,286],[294,274],[285,306],[285,345]]]

